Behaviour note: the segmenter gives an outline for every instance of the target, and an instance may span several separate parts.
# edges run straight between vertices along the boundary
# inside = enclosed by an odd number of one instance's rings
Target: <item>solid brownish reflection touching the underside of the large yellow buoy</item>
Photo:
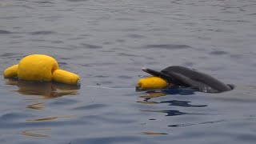
[[[18,90],[14,90],[19,94],[38,95],[43,98],[58,98],[64,95],[78,94],[80,86],[66,85],[57,82],[34,82],[21,81],[18,79],[8,79],[6,85],[18,86]]]

